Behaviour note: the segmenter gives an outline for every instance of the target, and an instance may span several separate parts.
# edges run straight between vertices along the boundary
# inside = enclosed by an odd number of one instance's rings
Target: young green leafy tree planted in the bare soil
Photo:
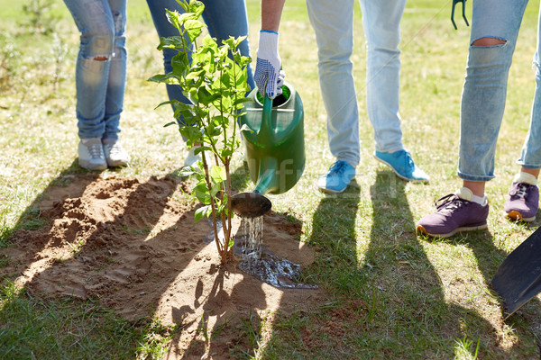
[[[206,25],[200,21],[200,16],[205,5],[197,0],[177,1],[186,13],[166,10],[166,14],[179,30],[179,36],[161,38],[158,49],[177,49],[179,53],[171,60],[173,69],[170,73],[152,76],[149,80],[179,85],[191,102],[170,100],[158,106],[170,103],[174,106],[178,121],[166,126],[178,123],[188,148],[197,147],[195,153],[201,154],[202,160],[197,166],[189,166],[183,171],[197,178],[193,194],[203,206],[197,209],[196,220],[212,219],[215,244],[222,263],[225,263],[234,244],[230,164],[240,145],[237,119],[243,115],[245,94],[250,90],[247,65],[252,59],[242,56],[238,49],[245,37],[231,37],[220,46],[208,35],[201,40]],[[210,157],[214,161],[209,161]],[[219,221],[223,238],[219,233]]]

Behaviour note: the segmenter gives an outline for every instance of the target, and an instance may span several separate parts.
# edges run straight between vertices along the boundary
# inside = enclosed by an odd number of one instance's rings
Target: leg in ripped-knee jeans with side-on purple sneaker
[[[485,183],[494,177],[494,153],[507,94],[509,67],[527,0],[474,1],[471,46],[463,85],[458,175],[463,187],[440,199],[417,231],[449,237],[487,228]]]

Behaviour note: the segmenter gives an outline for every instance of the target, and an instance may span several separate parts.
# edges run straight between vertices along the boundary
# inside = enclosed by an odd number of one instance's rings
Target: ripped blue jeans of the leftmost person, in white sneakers
[[[118,139],[126,82],[126,1],[64,0],[80,31],[75,73],[80,139]]]

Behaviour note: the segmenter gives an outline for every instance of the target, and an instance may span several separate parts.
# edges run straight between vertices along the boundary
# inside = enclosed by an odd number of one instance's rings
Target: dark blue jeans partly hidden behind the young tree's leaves
[[[248,35],[248,15],[246,14],[246,4],[244,0],[202,0],[205,4],[203,20],[208,28],[208,33],[216,38],[218,46],[222,45],[222,40],[229,39],[230,36],[238,38]],[[169,23],[165,15],[165,9],[170,11],[177,10],[180,14],[184,9],[176,0],[147,0],[151,10],[152,21],[160,37],[179,36],[179,31]],[[250,56],[250,46],[248,39],[244,40],[239,49],[243,56]],[[171,58],[178,54],[175,49],[163,50],[163,64],[165,72],[172,71]],[[248,66],[248,85],[255,87],[253,83],[252,67]],[[179,85],[166,85],[170,100],[179,100],[182,103],[189,103],[189,100],[182,94]],[[182,121],[182,119],[178,119]]]

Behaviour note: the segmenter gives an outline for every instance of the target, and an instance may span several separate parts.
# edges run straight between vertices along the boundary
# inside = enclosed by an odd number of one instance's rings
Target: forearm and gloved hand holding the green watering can
[[[253,80],[261,95],[281,94],[285,73],[278,53],[278,29],[285,0],[261,0],[261,31]]]

